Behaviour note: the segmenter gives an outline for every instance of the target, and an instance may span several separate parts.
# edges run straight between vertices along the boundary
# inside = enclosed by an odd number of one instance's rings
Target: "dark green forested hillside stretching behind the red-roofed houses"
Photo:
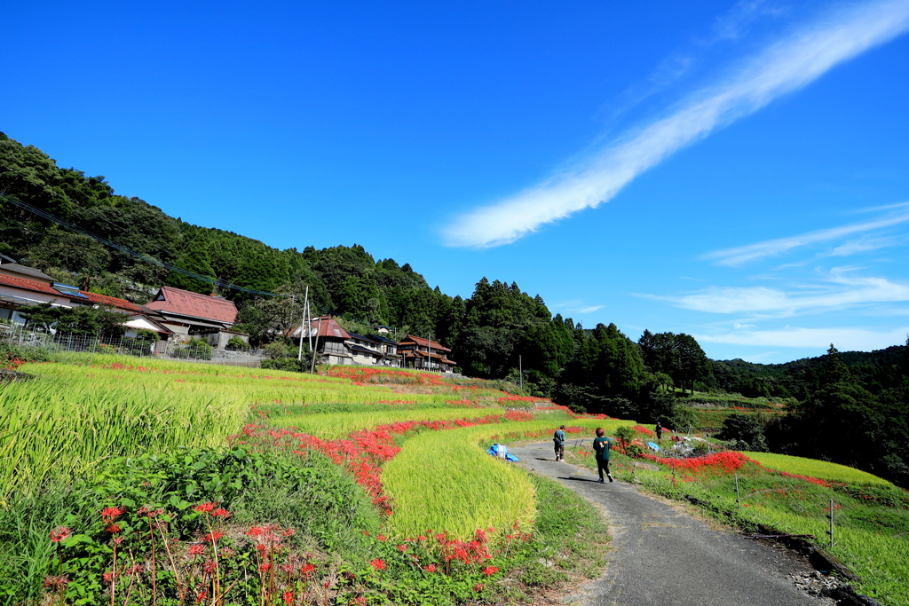
[[[357,331],[382,324],[399,335],[431,335],[453,350],[462,373],[523,381],[527,392],[578,412],[684,427],[692,419],[680,403],[686,393],[788,398],[782,421],[748,429],[765,434],[765,442],[754,443],[909,484],[903,439],[909,363],[902,345],[872,353],[833,350],[785,364],[711,361],[688,334],[644,331],[635,343],[614,324],[584,329],[571,318],[553,317],[542,297],[516,283],[484,277],[471,297],[451,297],[409,263],[376,260],[357,244],[278,250],[187,224],[115,194],[103,176],[60,168],[41,150],[2,133],[0,211],[0,253],[60,282],[135,303],[147,302],[165,284],[225,296],[236,303],[239,328],[254,343],[279,339],[299,322],[308,287],[318,313],[342,316]],[[814,428],[824,439],[794,441]]]

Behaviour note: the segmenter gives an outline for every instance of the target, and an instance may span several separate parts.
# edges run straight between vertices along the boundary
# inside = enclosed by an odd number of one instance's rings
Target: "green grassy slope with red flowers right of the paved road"
[[[694,504],[748,534],[811,535],[810,544],[844,561],[858,576],[857,591],[887,605],[909,605],[909,492],[834,463],[726,450],[715,440],[695,440],[695,452],[680,457],[665,436],[664,452],[654,453],[646,446],[655,441],[653,432],[638,427],[630,435],[613,451],[617,480]],[[596,468],[589,442],[569,446],[566,459]]]

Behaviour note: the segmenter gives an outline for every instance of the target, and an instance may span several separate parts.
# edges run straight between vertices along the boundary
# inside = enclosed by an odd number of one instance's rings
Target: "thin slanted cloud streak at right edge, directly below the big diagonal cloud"
[[[782,254],[800,246],[805,246],[813,243],[828,242],[847,235],[852,235],[854,233],[871,232],[876,229],[883,229],[885,227],[890,227],[892,225],[909,221],[909,209],[907,209],[904,204],[896,204],[894,207],[899,208],[902,212],[888,214],[887,216],[880,219],[867,221],[860,224],[842,225],[840,227],[822,229],[816,232],[801,233],[785,238],[777,238],[775,240],[767,240],[765,242],[748,244],[747,246],[739,246],[723,251],[715,251],[714,253],[705,254],[704,259],[714,261],[720,265],[737,266],[748,263],[750,261],[755,261],[757,259],[762,259],[764,257]],[[878,246],[878,248],[879,247],[880,246]],[[840,250],[840,254],[842,255],[847,253],[847,251],[850,249],[848,247],[844,248],[841,246]],[[856,252],[858,252],[857,248],[853,247],[852,253]]]

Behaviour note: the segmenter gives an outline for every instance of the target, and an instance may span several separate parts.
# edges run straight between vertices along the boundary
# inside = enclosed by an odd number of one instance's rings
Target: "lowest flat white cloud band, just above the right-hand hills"
[[[873,331],[864,328],[784,328],[772,331],[744,331],[741,333],[695,334],[694,338],[704,343],[725,343],[729,345],[759,345],[764,347],[818,347],[834,343],[841,351],[864,351],[884,349],[891,345],[902,345],[906,341],[909,326],[888,331]]]

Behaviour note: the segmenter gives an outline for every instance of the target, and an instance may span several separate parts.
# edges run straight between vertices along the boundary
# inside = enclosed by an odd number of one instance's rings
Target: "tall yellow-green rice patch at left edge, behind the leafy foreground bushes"
[[[39,492],[106,460],[175,446],[217,446],[235,432],[237,394],[50,378],[0,388],[0,498]]]

